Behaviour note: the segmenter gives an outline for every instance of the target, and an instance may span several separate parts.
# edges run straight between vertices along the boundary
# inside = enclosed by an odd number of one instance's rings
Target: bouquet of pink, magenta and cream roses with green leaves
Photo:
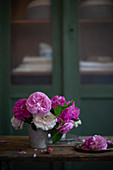
[[[33,130],[41,128],[51,130],[55,128],[53,143],[63,134],[81,124],[80,109],[74,100],[66,102],[64,96],[54,96],[52,99],[42,93],[32,93],[28,99],[18,100],[13,107],[12,126],[18,130],[23,128],[24,122],[31,124]]]

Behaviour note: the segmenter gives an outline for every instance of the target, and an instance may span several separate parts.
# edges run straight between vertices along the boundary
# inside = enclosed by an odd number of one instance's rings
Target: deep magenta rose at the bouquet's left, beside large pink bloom
[[[23,120],[31,116],[31,113],[26,108],[27,99],[18,100],[13,107],[13,113],[18,120]]]

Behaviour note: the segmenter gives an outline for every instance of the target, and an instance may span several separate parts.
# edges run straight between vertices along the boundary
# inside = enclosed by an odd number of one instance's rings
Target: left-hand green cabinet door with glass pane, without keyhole
[[[62,93],[61,1],[37,2],[0,2],[0,129],[5,134],[18,134],[10,123],[18,99],[35,91],[49,97]]]

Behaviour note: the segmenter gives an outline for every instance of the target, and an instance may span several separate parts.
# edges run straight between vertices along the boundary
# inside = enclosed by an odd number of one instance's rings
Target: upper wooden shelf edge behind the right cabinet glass
[[[113,23],[113,20],[80,19],[80,23]]]

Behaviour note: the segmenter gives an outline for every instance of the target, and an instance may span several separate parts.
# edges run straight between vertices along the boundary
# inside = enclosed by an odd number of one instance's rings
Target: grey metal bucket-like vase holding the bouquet
[[[33,130],[28,124],[29,141],[32,148],[46,148],[48,142],[48,131],[38,128]]]

